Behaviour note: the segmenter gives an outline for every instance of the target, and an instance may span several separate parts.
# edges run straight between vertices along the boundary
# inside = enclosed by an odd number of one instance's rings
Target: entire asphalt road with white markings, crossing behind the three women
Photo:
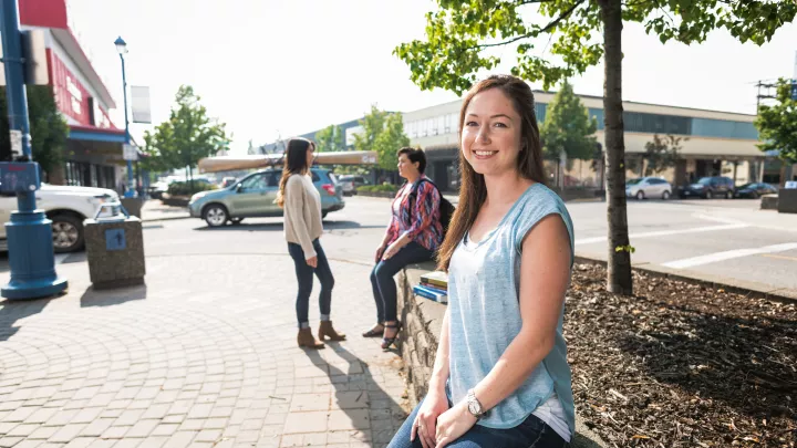
[[[324,220],[329,258],[371,264],[389,221],[390,201],[346,198],[346,207]],[[603,202],[570,202],[576,251],[605,258]],[[758,210],[752,200],[629,201],[632,261],[671,269],[797,288],[797,216]],[[239,226],[210,229],[199,219],[147,222],[147,256],[286,253],[282,220],[246,219]],[[59,257],[59,263],[85,260],[84,253]],[[0,259],[0,272],[8,258]]]

